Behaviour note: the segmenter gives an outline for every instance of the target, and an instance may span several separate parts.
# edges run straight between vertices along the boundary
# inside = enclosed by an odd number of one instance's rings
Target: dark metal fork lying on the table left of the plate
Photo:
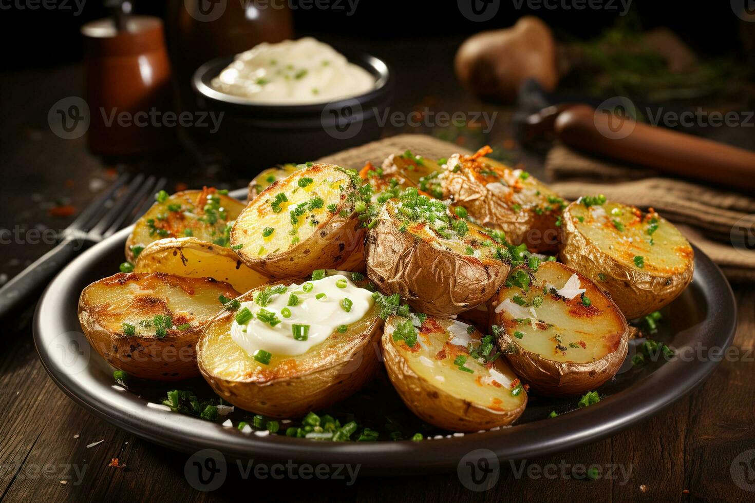
[[[75,255],[139,219],[165,178],[122,174],[60,233],[60,243],[0,288],[0,319],[45,286]],[[128,185],[127,185],[128,184]]]

